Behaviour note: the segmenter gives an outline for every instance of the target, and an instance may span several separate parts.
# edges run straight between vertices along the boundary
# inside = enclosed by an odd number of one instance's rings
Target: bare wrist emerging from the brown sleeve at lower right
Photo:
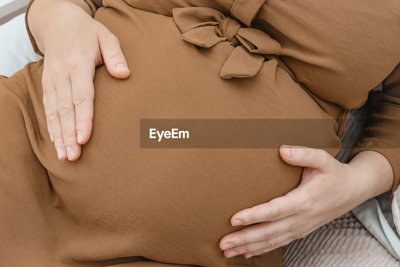
[[[388,160],[375,151],[362,151],[349,162],[352,167],[351,184],[354,197],[365,201],[390,190],[393,186],[393,170]]]

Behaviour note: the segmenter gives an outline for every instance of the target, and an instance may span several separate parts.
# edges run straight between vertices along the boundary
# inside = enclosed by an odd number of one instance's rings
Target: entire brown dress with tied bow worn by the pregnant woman
[[[296,188],[302,168],[278,147],[140,148],[140,119],[321,119],[276,132],[334,156],[348,109],[400,61],[398,1],[370,2],[88,1],[131,75],[96,69],[92,137],[75,162],[48,138],[43,61],[0,76],[0,265],[280,266],[282,249],[226,259],[218,244],[242,228],[235,212]],[[354,151],[386,156],[394,188],[399,83],[396,67]]]

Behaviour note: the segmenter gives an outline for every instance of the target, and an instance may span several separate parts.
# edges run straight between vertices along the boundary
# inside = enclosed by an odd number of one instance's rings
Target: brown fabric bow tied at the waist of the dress
[[[182,38],[199,47],[212,47],[218,42],[231,42],[232,53],[224,63],[220,76],[253,77],[261,69],[264,57],[259,54],[281,53],[280,44],[268,34],[244,28],[236,20],[206,7],[174,8],[174,21]]]

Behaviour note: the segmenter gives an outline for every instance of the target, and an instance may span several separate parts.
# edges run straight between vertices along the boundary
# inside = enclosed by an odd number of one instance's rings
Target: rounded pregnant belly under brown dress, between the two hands
[[[285,164],[278,147],[140,148],[140,119],[330,119],[319,129],[275,131],[282,140],[296,133],[299,145],[335,148],[331,154],[340,147],[334,120],[276,61],[254,77],[223,80],[228,42],[199,48],[182,40],[172,17],[119,9],[101,8],[96,19],[120,39],[131,75],[118,80],[96,69],[92,138],[79,160],[48,170],[63,211],[57,220],[70,221],[58,233],[62,253],[80,261],[279,265],[281,251],[226,259],[218,244],[241,228],[230,225],[235,212],[296,188],[302,168]]]

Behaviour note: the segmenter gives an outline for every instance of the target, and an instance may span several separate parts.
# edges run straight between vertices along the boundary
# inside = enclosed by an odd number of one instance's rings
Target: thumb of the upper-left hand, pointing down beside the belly
[[[128,69],[128,64],[126,64],[124,54],[122,54],[118,38],[107,29],[99,32],[97,38],[100,53],[102,54],[108,72],[118,79],[128,78],[130,71]]]

